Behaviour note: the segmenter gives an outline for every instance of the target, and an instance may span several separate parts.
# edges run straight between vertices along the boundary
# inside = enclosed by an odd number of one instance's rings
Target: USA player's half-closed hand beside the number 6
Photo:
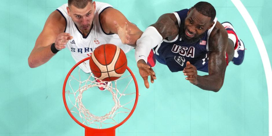
[[[197,70],[196,67],[190,64],[189,61],[186,62],[186,67],[183,69],[183,73],[187,76],[185,79],[189,80],[192,84],[197,84]]]

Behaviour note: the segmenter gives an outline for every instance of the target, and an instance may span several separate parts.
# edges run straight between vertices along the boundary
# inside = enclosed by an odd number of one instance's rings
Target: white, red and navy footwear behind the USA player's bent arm
[[[222,23],[222,25],[225,27],[228,34],[234,34],[236,37],[236,43],[234,46],[234,57],[231,61],[235,65],[240,65],[240,64],[242,64],[244,57],[245,57],[245,45],[244,45],[243,41],[238,38],[238,36],[234,30],[234,27],[232,26],[231,23],[224,22],[224,23]]]

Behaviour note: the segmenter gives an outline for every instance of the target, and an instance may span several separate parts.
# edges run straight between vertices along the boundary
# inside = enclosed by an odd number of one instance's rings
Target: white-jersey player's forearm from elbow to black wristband
[[[28,57],[28,65],[31,68],[39,67],[49,61],[54,55],[51,51],[51,46],[36,48]]]

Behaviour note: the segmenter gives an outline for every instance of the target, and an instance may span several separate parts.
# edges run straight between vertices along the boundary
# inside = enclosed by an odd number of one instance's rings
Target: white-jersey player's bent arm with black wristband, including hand
[[[38,36],[35,46],[28,57],[28,65],[31,68],[38,67],[49,61],[55,54],[51,51],[51,45],[55,43],[57,50],[65,48],[65,44],[72,38],[70,34],[63,33],[66,22],[58,11],[52,12],[45,25],[43,31]]]

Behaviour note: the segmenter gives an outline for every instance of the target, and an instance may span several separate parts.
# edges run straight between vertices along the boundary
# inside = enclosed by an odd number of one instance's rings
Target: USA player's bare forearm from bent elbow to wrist
[[[220,79],[216,76],[197,76],[196,86],[208,91],[218,92],[223,86],[224,79]]]

